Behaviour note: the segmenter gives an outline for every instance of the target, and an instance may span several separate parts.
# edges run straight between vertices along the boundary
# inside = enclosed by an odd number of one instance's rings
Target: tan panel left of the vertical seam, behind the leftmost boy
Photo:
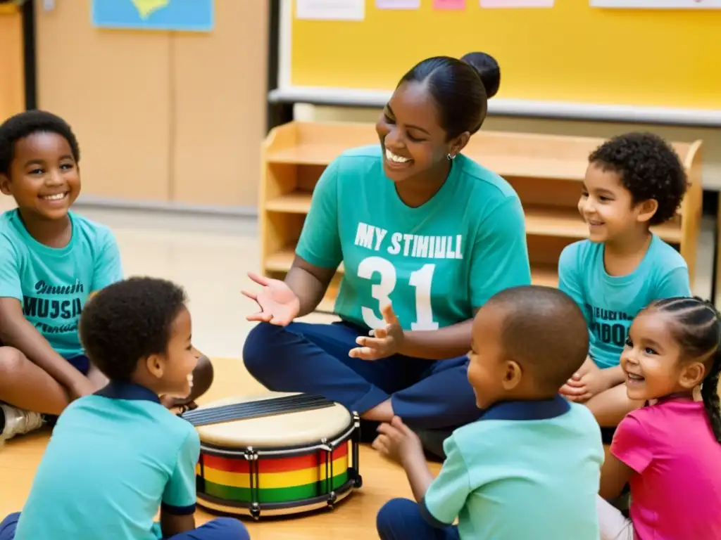
[[[90,0],[35,1],[37,107],[61,115],[81,148],[81,197],[167,201],[170,37],[100,31]]]

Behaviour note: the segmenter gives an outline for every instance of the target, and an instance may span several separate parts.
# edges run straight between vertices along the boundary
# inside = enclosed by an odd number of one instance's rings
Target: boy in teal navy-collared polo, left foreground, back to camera
[[[112,284],[86,305],[80,336],[110,383],[64,410],[0,540],[248,539],[234,518],[195,528],[200,438],[159,400],[186,397],[193,385],[185,292],[151,278]]]

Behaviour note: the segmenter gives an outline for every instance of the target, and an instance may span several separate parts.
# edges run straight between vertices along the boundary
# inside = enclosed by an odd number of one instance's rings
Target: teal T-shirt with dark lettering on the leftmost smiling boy
[[[64,248],[32,238],[17,209],[0,215],[0,297],[19,300],[25,318],[66,359],[84,354],[78,321],[89,295],[123,279],[110,229],[68,215],[72,236]]]

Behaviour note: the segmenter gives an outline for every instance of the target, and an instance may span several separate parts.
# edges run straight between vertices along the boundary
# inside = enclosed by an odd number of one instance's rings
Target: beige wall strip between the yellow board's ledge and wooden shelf
[[[375,122],[378,110],[342,109],[337,107],[296,106],[298,120],[327,120]],[[610,137],[625,131],[650,130],[673,141],[702,139],[704,149],[704,189],[721,189],[721,127],[698,128],[660,125],[637,125],[605,122],[571,122],[566,120],[539,120],[533,118],[489,117],[484,130],[549,133],[552,135],[580,135]]]

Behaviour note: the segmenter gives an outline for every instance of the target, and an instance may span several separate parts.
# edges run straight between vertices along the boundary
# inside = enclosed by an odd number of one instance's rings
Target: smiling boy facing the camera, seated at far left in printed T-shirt
[[[22,112],[0,125],[0,192],[17,204],[0,215],[0,443],[107,382],[85,356],[77,325],[87,299],[123,269],[110,229],[70,210],[79,160],[71,127],[54,114]],[[210,387],[208,359],[195,379],[189,400]]]

